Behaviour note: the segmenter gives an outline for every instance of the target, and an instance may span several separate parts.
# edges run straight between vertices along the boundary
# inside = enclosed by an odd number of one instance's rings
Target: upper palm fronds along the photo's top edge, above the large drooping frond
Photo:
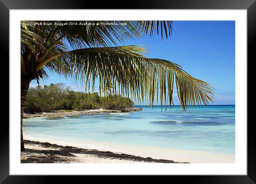
[[[36,64],[51,54],[53,48],[60,52],[72,49],[107,47],[124,43],[125,40],[141,37],[150,30],[150,36],[159,27],[171,35],[172,21],[21,21],[21,48],[31,50],[36,57]],[[57,24],[55,24],[57,23]]]

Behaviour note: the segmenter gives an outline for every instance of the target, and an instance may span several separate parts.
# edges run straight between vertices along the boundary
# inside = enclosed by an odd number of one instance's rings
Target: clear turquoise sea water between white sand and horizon
[[[27,138],[235,154],[235,105],[189,111],[160,106],[129,113],[86,114],[23,120]]]

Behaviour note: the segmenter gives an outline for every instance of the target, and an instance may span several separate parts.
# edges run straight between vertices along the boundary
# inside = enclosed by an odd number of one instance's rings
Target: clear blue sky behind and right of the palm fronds
[[[148,45],[149,58],[173,61],[214,86],[213,104],[235,104],[235,21],[174,21],[173,34],[167,40],[145,35],[120,45]],[[83,86],[76,86],[72,79],[54,74],[40,81],[40,85],[50,83],[65,83],[75,91],[83,91]],[[36,85],[32,81],[30,86]],[[174,104],[179,104],[177,95]]]

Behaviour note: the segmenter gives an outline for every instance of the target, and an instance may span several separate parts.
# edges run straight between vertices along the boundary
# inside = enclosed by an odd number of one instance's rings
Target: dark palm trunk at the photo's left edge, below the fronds
[[[20,95],[20,149],[24,151],[24,141],[23,141],[23,131],[22,131],[22,124],[23,124],[23,112],[25,106],[25,100],[29,89],[29,84],[31,82],[31,78],[21,75],[21,95]]]

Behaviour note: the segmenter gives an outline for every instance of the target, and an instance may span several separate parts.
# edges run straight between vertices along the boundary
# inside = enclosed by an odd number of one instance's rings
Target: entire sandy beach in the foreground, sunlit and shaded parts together
[[[21,152],[21,163],[94,163],[95,158],[97,160],[95,163],[235,163],[235,155],[205,151],[127,146],[92,141],[87,141],[85,144],[71,143],[65,140],[53,141],[28,136],[25,136],[25,139],[26,151]],[[124,155],[126,156],[123,157]]]

